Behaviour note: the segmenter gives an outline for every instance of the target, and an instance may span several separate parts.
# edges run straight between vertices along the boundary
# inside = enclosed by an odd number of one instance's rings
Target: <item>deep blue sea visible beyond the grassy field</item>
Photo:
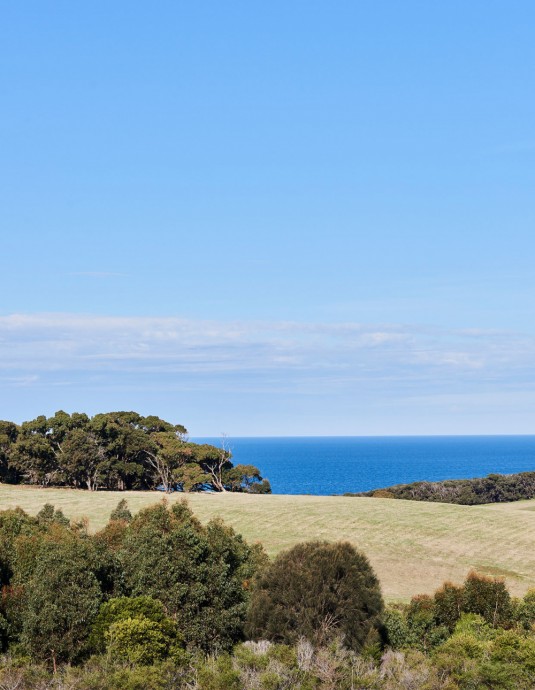
[[[196,442],[220,446],[219,438]],[[315,436],[226,439],[277,494],[342,494],[419,480],[535,471],[535,436]]]

